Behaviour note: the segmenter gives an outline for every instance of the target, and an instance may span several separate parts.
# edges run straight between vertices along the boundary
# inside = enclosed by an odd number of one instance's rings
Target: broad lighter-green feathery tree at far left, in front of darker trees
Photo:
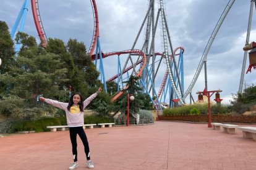
[[[18,36],[19,41],[24,44],[15,65],[0,77],[0,84],[6,84],[7,87],[7,90],[1,93],[3,100],[0,105],[8,102],[12,107],[9,112],[2,107],[0,112],[15,118],[36,119],[44,113],[49,113],[48,106],[38,105],[36,98],[39,94],[43,93],[53,99],[67,96],[65,89],[60,86],[68,80],[67,69],[63,68],[59,55],[48,53],[34,44],[33,37],[25,33],[18,33]],[[20,102],[15,104],[15,101]]]

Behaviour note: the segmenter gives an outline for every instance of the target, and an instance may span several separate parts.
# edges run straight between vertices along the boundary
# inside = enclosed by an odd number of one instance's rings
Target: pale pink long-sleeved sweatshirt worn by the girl
[[[90,95],[87,99],[83,101],[83,109],[87,107],[87,105],[98,95],[97,92],[95,94]],[[77,127],[77,126],[83,126],[84,119],[83,119],[83,110],[80,110],[79,113],[70,113],[69,110],[67,110],[67,106],[69,103],[63,103],[56,100],[51,99],[45,99],[45,102],[53,105],[54,107],[61,108],[66,112],[66,118],[67,118],[67,126],[69,127]]]

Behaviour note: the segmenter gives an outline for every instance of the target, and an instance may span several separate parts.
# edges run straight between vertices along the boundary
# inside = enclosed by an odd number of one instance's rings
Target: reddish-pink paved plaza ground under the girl
[[[95,169],[256,169],[256,141],[243,139],[241,131],[168,121],[85,131]],[[4,170],[68,169],[72,162],[69,131],[1,137],[0,146]],[[77,169],[88,169],[80,139],[78,152]]]

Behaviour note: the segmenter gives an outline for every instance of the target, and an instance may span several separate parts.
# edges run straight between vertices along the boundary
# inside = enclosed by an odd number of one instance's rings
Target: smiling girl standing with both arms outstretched
[[[77,163],[77,134],[82,140],[83,146],[85,148],[85,155],[87,158],[87,162],[85,163],[85,165],[88,168],[94,168],[93,162],[90,158],[90,149],[87,136],[85,134],[85,131],[83,130],[83,110],[98,94],[100,94],[101,91],[102,89],[100,87],[98,91],[95,92],[95,94],[90,95],[90,97],[88,97],[84,101],[80,93],[75,93],[70,97],[69,103],[62,103],[56,100],[40,97],[41,101],[53,105],[54,107],[61,108],[66,112],[67,126],[69,126],[69,136],[72,144],[72,153],[74,159],[74,162],[70,164],[70,170],[75,169],[79,166],[79,164]]]

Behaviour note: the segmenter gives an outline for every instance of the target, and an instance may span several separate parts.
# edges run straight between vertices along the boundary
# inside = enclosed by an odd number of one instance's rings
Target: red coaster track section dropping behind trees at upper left
[[[32,6],[32,13],[35,21],[36,30],[41,41],[41,46],[46,48],[47,37],[45,34],[45,30],[43,29],[43,23],[41,22],[38,0],[31,0],[31,6]]]

